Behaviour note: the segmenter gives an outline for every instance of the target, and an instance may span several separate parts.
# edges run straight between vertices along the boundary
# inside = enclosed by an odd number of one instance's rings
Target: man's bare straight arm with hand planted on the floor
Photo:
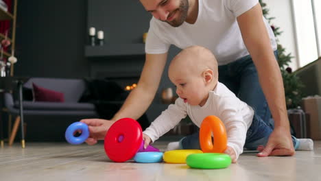
[[[238,16],[237,22],[243,41],[257,67],[259,82],[275,122],[268,144],[259,156],[292,156],[295,152],[289,133],[283,80],[263,22],[261,5],[258,3]]]

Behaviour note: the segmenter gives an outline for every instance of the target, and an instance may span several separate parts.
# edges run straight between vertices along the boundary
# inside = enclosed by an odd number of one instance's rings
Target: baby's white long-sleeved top
[[[221,119],[226,128],[228,146],[235,150],[237,158],[243,152],[246,132],[252,124],[254,110],[220,82],[209,92],[209,99],[204,106],[191,106],[178,98],[175,104],[169,105],[143,133],[154,142],[174,128],[187,114],[199,128],[203,119],[209,115]]]

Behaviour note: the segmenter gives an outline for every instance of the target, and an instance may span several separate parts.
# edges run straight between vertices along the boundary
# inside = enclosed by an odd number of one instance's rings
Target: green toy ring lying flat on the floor
[[[232,160],[228,154],[205,153],[190,154],[186,162],[193,169],[224,169],[230,165]]]

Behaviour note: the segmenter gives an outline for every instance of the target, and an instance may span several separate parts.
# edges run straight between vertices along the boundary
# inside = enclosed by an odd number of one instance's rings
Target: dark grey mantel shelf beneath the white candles
[[[106,56],[144,56],[145,44],[143,43],[124,43],[107,44],[104,46],[86,46],[85,56],[87,58],[106,57]]]

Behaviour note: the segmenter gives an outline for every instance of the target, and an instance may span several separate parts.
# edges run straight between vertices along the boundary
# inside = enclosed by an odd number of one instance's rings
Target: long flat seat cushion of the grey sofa
[[[18,101],[14,107],[19,108]],[[23,110],[95,110],[95,106],[90,103],[23,101]]]

